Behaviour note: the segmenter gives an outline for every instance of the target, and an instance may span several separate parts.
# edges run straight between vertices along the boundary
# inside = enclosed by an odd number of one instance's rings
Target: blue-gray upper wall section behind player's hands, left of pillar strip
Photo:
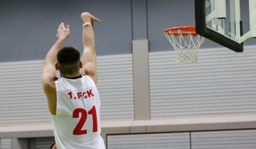
[[[0,62],[44,59],[61,22],[71,26],[65,45],[82,52],[84,11],[102,21],[95,24],[98,55],[131,53],[130,0],[1,0]]]

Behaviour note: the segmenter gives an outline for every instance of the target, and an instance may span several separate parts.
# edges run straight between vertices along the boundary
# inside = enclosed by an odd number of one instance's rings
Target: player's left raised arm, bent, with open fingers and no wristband
[[[64,41],[68,38],[70,35],[70,26],[67,25],[67,28],[64,26],[64,23],[61,23],[58,27],[57,31],[57,41],[56,43],[51,47],[50,51],[47,53],[45,57],[45,62],[43,64],[43,70],[42,70],[42,85],[44,88],[44,91],[47,94],[51,94],[51,88],[52,84],[54,83],[54,80],[56,77],[56,70],[55,70],[55,64],[57,63],[57,53],[61,49]]]

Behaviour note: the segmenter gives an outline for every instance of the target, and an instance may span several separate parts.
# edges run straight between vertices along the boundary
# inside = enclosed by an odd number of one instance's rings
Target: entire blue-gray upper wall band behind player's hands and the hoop
[[[80,14],[88,11],[95,24],[97,55],[132,53],[132,40],[149,39],[150,52],[173,50],[164,29],[194,26],[194,0],[1,0],[0,62],[44,59],[56,41],[61,22],[71,26],[64,45],[82,52]],[[244,30],[249,30],[248,1],[241,3]],[[249,39],[244,45],[255,44]],[[205,40],[202,48],[220,45]]]

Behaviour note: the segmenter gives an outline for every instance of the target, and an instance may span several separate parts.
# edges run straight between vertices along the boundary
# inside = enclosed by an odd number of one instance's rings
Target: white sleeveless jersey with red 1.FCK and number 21
[[[105,149],[100,136],[100,96],[89,76],[55,82],[56,115],[51,115],[58,149]]]

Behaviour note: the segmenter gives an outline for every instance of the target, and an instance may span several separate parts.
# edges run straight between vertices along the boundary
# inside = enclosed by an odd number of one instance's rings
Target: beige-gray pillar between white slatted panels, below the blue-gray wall
[[[135,120],[150,119],[148,51],[148,40],[132,41]]]

